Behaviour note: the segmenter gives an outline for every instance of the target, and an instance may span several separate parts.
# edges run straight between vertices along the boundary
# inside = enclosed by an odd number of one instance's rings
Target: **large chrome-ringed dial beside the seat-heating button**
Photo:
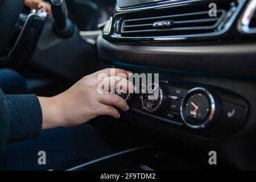
[[[210,126],[220,115],[220,107],[216,94],[204,88],[188,91],[181,104],[181,117],[185,124],[193,129]]]

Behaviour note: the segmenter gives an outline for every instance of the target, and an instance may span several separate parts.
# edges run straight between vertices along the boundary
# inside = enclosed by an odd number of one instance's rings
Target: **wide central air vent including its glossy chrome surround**
[[[160,5],[156,3],[151,7],[120,10],[114,20],[120,20],[121,26],[112,38],[156,40],[155,38],[217,37],[229,30],[244,3],[245,1],[237,0],[214,0],[213,3],[171,1],[164,3],[163,7],[158,7]],[[214,6],[216,14],[211,14],[210,10]]]

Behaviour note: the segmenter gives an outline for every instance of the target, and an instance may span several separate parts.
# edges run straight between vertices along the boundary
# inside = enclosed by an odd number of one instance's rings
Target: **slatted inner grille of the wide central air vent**
[[[224,18],[226,11],[217,10],[217,16],[210,17],[209,11],[156,16],[151,18],[127,19],[122,24],[122,35],[126,36],[168,36],[214,32]]]

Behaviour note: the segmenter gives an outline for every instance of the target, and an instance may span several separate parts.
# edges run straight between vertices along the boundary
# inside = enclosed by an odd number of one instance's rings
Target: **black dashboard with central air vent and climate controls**
[[[161,100],[125,96],[130,121],[256,169],[256,1],[123,2],[98,37],[99,56],[160,76]]]

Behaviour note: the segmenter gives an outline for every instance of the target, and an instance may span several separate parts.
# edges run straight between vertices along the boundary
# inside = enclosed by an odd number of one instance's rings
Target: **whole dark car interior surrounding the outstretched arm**
[[[53,17],[23,0],[0,2],[0,66],[25,78],[27,94],[56,96],[121,68],[158,73],[160,97],[122,94],[130,110],[119,119],[9,144],[1,170],[256,169],[255,0],[48,2]]]

